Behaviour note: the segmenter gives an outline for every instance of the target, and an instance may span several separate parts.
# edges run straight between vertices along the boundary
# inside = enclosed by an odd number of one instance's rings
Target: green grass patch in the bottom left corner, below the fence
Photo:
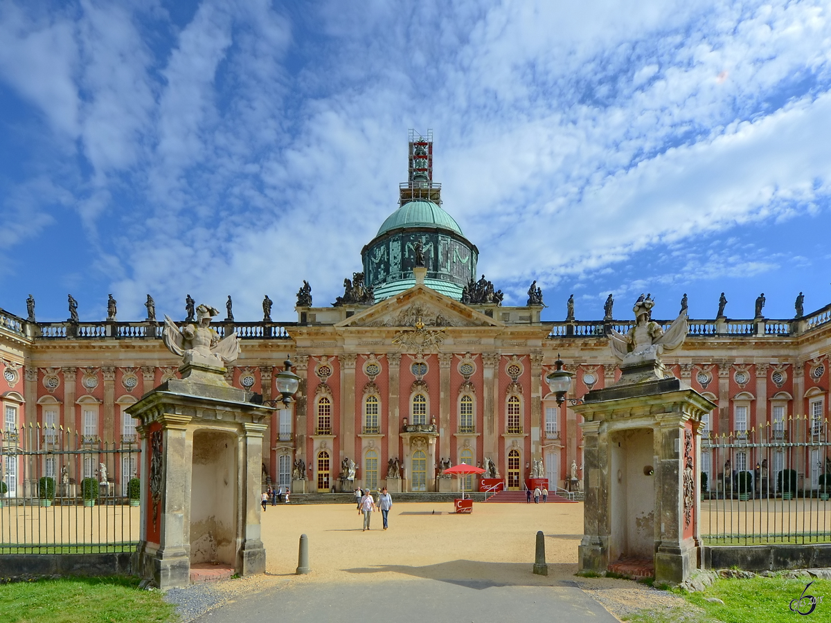
[[[3,623],[167,623],[178,621],[160,591],[137,577],[78,577],[0,586]]]

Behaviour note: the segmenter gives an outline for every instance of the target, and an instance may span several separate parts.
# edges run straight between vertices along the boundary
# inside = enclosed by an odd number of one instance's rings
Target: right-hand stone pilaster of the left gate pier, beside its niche
[[[251,576],[255,573],[265,573],[265,548],[263,548],[262,530],[260,527],[260,498],[263,490],[262,468],[263,463],[263,434],[266,424],[247,422],[243,424],[245,434],[240,439],[243,444],[243,456],[247,471],[240,470],[239,490],[245,492],[243,513],[245,517],[243,542],[237,548],[242,557],[241,576]]]

